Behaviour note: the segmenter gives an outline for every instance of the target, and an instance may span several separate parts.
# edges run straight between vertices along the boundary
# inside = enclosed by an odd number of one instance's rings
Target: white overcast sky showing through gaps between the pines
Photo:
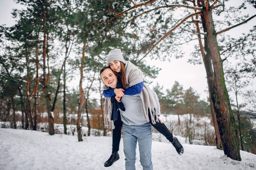
[[[239,4],[239,2],[241,1],[232,0],[232,4],[234,5]],[[15,24],[16,21],[11,16],[11,11],[15,8],[20,9],[21,5],[16,4],[13,0],[0,0],[0,25],[6,24],[6,26],[9,27]],[[256,13],[256,10],[253,7],[249,7],[247,13],[252,16]],[[252,29],[255,23],[256,18],[245,25],[231,29],[228,34],[232,35],[234,38],[238,38],[242,33],[247,33],[249,29]],[[148,64],[162,68],[158,77],[153,80],[150,87],[153,87],[153,85],[156,85],[158,82],[161,86],[164,86],[164,89],[171,89],[174,82],[178,81],[183,85],[184,89],[192,87],[200,94],[201,99],[206,99],[208,96],[208,92],[206,92],[206,72],[203,65],[187,63],[191,50],[193,50],[192,44],[184,45],[184,51],[186,51],[185,57],[179,59],[171,58],[171,62],[150,61],[150,59],[148,59]],[[255,85],[252,85],[250,88],[256,89]]]

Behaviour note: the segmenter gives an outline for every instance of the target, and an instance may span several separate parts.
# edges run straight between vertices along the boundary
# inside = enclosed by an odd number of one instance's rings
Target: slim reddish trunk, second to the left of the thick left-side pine
[[[33,123],[33,117],[31,112],[31,98],[29,94],[30,89],[30,76],[29,76],[29,56],[26,56],[26,66],[27,66],[27,98],[26,98],[26,111],[29,117],[29,129],[32,130],[34,123]]]

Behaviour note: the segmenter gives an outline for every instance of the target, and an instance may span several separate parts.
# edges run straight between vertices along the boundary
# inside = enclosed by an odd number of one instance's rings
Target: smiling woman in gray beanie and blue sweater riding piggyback
[[[103,94],[105,97],[113,96],[119,101],[124,95],[137,95],[140,94],[140,98],[144,101],[144,107],[142,107],[142,112],[148,122],[161,134],[163,134],[168,141],[170,141],[175,147],[178,154],[183,154],[183,147],[176,137],[173,137],[171,132],[168,130],[166,125],[162,123],[162,121],[158,118],[160,115],[160,109],[157,109],[158,98],[154,100],[154,94],[151,89],[148,88],[147,85],[144,84],[144,77],[141,70],[133,65],[130,61],[125,61],[120,49],[114,49],[109,52],[107,63],[110,68],[117,72],[120,76],[121,85],[123,88],[111,88],[109,89],[107,86],[104,87]],[[156,95],[155,95],[156,96]],[[158,102],[159,104],[159,102]],[[105,105],[106,107],[106,105]],[[158,110],[158,112],[157,112]],[[109,113],[109,112],[108,112]],[[121,139],[121,126],[122,122],[119,119],[119,112],[113,115],[105,115],[104,117],[111,117],[111,121],[108,119],[104,119],[104,123],[107,127],[113,129],[112,136],[112,154],[108,161],[104,164],[104,166],[111,166],[115,161],[119,159],[118,150],[119,150],[119,142]],[[160,121],[160,122],[159,122]]]

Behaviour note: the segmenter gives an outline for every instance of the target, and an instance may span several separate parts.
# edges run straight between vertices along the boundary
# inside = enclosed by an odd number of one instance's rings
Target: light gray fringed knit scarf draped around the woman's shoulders
[[[136,85],[143,81],[143,73],[141,70],[132,64],[130,61],[126,61],[125,63],[125,74],[126,74],[126,85],[127,87]],[[108,89],[108,86],[104,85],[103,89]],[[142,92],[139,94],[141,98],[141,111],[144,115],[147,122],[149,122],[148,112],[150,113],[150,117],[152,123],[155,124],[158,122],[157,116],[157,104],[155,102],[155,98],[150,90],[150,88],[144,84]],[[111,98],[106,98],[105,106],[104,106],[104,124],[105,128],[115,129],[114,121],[111,121],[111,113],[112,113],[112,103]]]

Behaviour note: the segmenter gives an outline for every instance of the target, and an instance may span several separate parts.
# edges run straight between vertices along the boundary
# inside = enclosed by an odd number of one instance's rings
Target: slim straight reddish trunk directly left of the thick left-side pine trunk
[[[37,128],[37,88],[39,84],[38,79],[38,69],[39,69],[39,60],[38,60],[38,46],[36,46],[36,85],[34,88],[34,127],[33,130],[36,130]]]

